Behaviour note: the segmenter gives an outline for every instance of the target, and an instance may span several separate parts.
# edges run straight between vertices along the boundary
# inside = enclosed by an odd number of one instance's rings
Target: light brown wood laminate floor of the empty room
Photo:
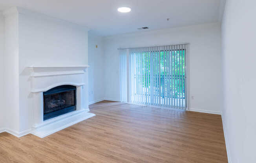
[[[220,115],[102,101],[46,138],[0,134],[0,163],[227,163]]]

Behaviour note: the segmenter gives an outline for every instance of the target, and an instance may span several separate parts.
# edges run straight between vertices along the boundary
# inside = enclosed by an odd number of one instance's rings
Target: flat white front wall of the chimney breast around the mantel
[[[43,14],[19,10],[20,130],[31,128],[29,65],[87,65],[88,31]],[[86,73],[86,75],[88,75]],[[87,77],[86,77],[87,78]],[[86,82],[87,83],[87,82]],[[88,86],[88,85],[86,85]],[[84,86],[84,88],[86,88]],[[86,88],[87,89],[87,88]],[[88,92],[88,90],[87,90]],[[84,96],[88,96],[88,93]],[[86,100],[87,99],[87,100]],[[88,98],[84,98],[87,103]]]

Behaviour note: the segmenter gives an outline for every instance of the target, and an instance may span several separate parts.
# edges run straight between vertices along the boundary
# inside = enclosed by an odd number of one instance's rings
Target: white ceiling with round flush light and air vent
[[[0,10],[19,6],[89,27],[102,36],[218,22],[223,0],[1,0]],[[118,7],[132,8],[119,13]],[[167,22],[166,18],[170,18]]]

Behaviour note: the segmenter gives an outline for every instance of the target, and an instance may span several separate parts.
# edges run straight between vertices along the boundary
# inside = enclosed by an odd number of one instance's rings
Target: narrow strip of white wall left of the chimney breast
[[[0,103],[4,103],[4,16],[0,13]],[[4,128],[4,107],[0,107],[0,130]]]

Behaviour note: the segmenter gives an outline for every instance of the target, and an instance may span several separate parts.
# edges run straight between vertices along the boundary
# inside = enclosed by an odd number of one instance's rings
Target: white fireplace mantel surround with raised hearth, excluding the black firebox
[[[31,93],[33,101],[33,125],[31,134],[40,138],[86,120],[95,114],[84,109],[83,92],[84,73],[89,66],[29,66],[31,70]],[[60,85],[74,85],[76,89],[76,110],[44,121],[43,92]]]

